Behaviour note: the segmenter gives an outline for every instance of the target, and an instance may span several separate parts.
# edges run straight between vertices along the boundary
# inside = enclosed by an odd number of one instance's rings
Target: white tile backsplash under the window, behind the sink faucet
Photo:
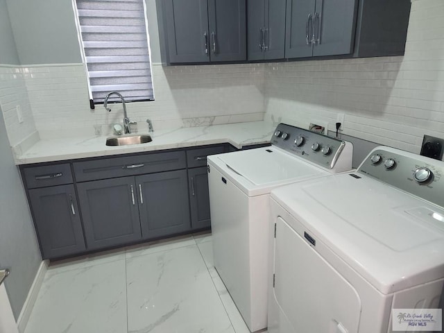
[[[102,105],[89,109],[83,65],[28,68],[28,95],[41,137],[60,130],[67,135],[103,134],[121,122],[121,105],[107,112]],[[153,65],[155,101],[128,103],[128,117],[146,131],[146,119],[155,128],[200,126],[262,120],[264,67],[262,65],[205,65],[162,67]]]

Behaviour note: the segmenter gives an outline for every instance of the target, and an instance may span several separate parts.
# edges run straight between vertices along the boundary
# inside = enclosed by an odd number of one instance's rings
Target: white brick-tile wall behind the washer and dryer
[[[265,119],[343,133],[418,153],[424,134],[444,137],[444,1],[412,2],[403,57],[272,63]]]

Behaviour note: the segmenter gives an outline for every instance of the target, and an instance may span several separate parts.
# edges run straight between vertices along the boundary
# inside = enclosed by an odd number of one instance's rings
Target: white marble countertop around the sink
[[[151,133],[152,142],[128,146],[105,146],[106,136],[41,139],[22,155],[17,156],[15,162],[16,164],[31,164],[221,143],[229,143],[236,148],[242,148],[250,144],[270,142],[274,129],[273,123],[254,121],[155,130]]]

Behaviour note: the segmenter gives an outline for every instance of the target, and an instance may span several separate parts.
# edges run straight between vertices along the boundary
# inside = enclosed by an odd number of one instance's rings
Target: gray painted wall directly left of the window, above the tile
[[[6,3],[20,64],[82,62],[71,0]]]

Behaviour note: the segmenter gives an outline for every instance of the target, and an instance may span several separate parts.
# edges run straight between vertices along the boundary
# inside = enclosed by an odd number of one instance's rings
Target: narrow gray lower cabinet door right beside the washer
[[[188,170],[191,228],[210,228],[210,195],[207,167]]]

